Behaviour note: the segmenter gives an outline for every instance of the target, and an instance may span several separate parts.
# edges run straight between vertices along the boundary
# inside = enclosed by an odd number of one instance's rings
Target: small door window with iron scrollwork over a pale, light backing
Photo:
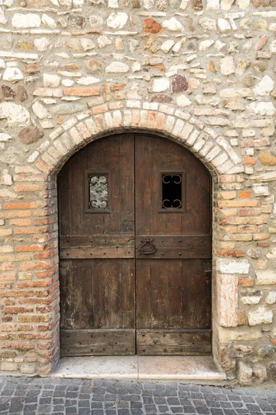
[[[89,180],[89,210],[108,209],[108,176],[90,175]]]

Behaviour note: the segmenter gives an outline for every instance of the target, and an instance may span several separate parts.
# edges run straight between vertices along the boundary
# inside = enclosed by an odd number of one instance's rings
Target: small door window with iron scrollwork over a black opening
[[[182,174],[162,174],[162,209],[181,209]]]

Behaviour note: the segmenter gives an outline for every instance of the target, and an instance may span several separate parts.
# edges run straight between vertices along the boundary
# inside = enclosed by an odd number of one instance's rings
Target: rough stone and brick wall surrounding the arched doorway
[[[56,175],[148,131],[213,175],[213,353],[276,382],[276,1],[0,0],[0,369],[59,358]]]

